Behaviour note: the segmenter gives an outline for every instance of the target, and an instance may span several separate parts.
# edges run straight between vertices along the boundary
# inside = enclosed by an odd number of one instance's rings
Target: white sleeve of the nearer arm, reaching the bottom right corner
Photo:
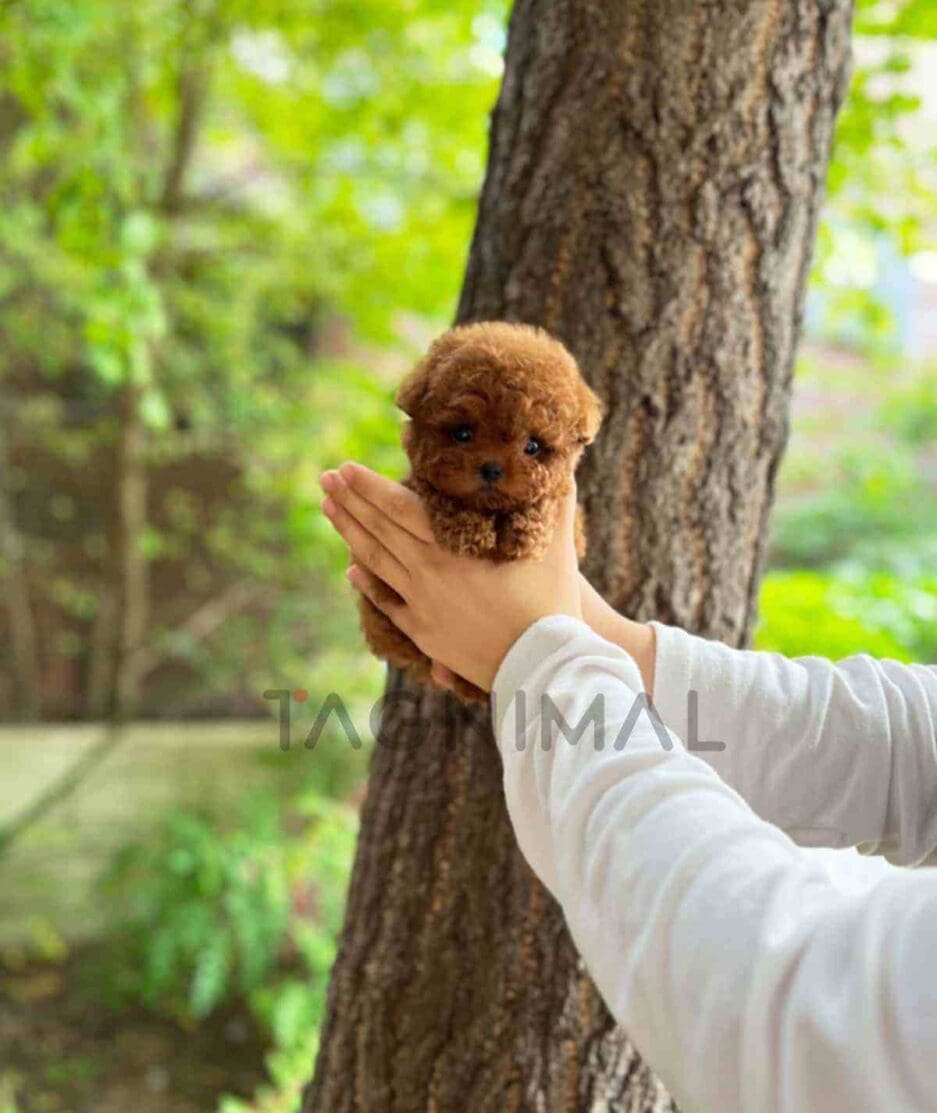
[[[931,1110],[937,876],[845,894],[640,689],[628,654],[554,617],[493,700],[517,841],[615,1018],[687,1113]]]

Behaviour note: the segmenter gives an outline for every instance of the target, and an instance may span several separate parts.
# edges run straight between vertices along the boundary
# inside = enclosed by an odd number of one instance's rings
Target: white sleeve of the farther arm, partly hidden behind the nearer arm
[[[791,660],[653,627],[658,712],[758,815],[802,846],[898,865],[937,850],[937,669]]]

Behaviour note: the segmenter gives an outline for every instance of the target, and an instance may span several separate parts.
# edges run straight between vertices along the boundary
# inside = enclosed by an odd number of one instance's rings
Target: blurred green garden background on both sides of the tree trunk
[[[0,1113],[297,1109],[383,681],[316,476],[403,470],[506,12],[0,9]],[[861,0],[760,647],[937,659],[935,135]]]

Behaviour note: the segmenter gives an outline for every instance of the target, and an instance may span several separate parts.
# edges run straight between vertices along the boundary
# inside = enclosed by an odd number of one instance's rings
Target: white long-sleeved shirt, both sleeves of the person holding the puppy
[[[937,671],[655,630],[668,730],[570,618],[493,692],[519,844],[610,1009],[687,1113],[937,1110],[937,871],[847,893],[797,845],[937,850]]]

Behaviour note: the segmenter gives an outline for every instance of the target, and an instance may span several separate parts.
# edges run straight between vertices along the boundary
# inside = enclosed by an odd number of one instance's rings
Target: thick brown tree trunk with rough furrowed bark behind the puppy
[[[546,326],[608,405],[593,583],[734,646],[850,7],[519,0],[458,307]],[[669,1107],[516,849],[484,711],[388,696],[306,1113]]]

